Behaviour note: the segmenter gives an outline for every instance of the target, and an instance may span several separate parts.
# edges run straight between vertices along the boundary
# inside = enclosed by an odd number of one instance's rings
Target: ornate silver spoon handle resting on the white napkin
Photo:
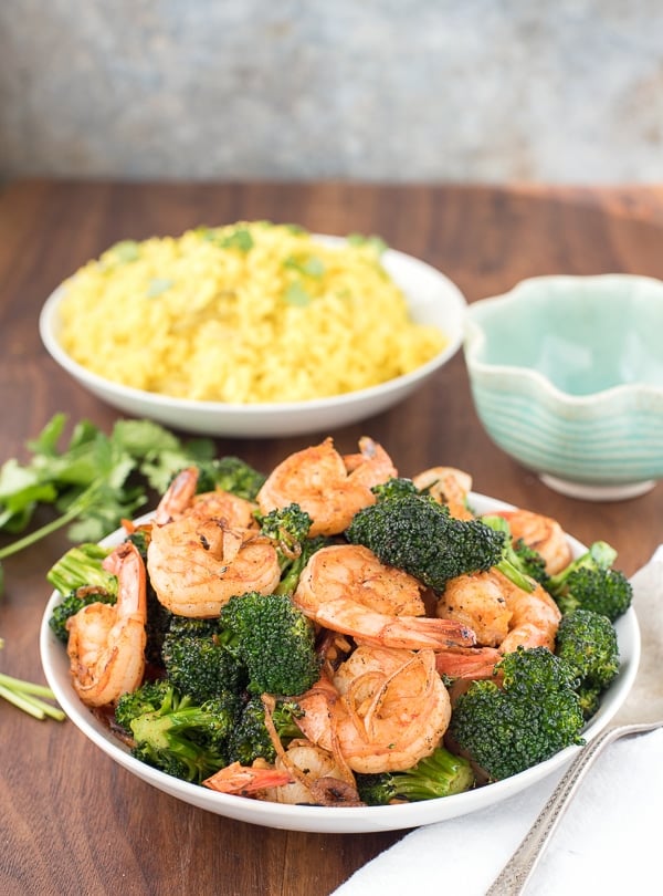
[[[612,726],[583,747],[485,896],[518,896],[523,893],[585,774],[609,743],[661,727],[663,720]]]

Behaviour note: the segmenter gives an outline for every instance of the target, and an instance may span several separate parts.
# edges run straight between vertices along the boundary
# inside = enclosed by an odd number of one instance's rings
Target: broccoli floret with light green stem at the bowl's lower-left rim
[[[196,704],[164,684],[150,685],[141,699],[143,688],[139,694],[120,698],[115,715],[116,721],[131,733],[131,754],[136,759],[194,783],[228,764],[225,742],[239,712],[235,695]],[[133,710],[139,715],[134,716]]]

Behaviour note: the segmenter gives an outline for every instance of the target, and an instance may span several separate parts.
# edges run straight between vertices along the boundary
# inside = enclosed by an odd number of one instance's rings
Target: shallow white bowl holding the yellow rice
[[[329,244],[344,242],[340,237],[316,235],[316,239]],[[412,319],[417,323],[438,326],[448,343],[434,358],[409,374],[330,398],[260,405],[192,402],[112,383],[77,364],[60,344],[57,306],[64,286],[56,289],[46,300],[39,320],[40,334],[49,354],[81,386],[135,417],[151,418],[176,429],[209,436],[269,437],[330,431],[372,417],[402,402],[446,364],[462,345],[465,299],[459,288],[430,264],[394,249],[385,252],[382,262],[404,292]]]

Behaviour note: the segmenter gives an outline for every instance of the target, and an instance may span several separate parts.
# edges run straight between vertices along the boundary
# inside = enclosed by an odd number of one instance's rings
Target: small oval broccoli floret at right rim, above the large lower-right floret
[[[600,694],[619,673],[614,626],[592,610],[575,610],[561,617],[555,653],[572,666],[585,692]]]

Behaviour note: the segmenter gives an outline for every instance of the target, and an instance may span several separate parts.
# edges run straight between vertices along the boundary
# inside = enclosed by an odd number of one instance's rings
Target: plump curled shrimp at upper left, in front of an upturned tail
[[[152,527],[147,569],[164,606],[204,618],[218,616],[235,594],[269,594],[281,577],[269,539],[196,513]]]

